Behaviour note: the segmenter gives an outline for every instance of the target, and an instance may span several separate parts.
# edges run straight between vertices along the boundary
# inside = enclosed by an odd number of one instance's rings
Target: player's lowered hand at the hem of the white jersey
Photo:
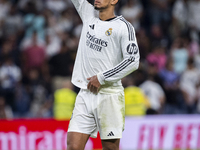
[[[87,88],[90,90],[92,93],[97,94],[99,92],[101,84],[99,83],[99,80],[97,76],[92,76],[90,78],[87,78],[89,81]]]

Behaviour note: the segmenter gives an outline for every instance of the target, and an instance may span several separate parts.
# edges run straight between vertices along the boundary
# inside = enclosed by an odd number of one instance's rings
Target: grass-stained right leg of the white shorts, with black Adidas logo
[[[125,104],[122,93],[101,94],[98,112],[99,133],[102,140],[120,139],[124,130]]]

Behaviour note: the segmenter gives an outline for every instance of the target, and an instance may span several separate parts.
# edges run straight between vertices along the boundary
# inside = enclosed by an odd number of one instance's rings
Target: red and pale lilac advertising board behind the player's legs
[[[0,150],[66,150],[69,121],[0,120]],[[102,149],[90,138],[86,150]],[[120,150],[200,150],[200,115],[126,117]]]

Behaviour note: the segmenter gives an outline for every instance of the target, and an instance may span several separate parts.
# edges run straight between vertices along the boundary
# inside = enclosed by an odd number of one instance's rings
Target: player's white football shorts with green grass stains
[[[125,124],[124,90],[106,89],[98,94],[81,89],[77,95],[68,132],[89,134],[101,139],[119,139]]]

